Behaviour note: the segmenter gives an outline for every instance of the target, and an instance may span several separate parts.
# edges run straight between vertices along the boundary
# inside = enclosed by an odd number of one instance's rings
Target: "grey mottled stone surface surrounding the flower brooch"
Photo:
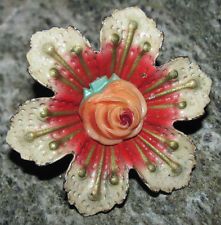
[[[221,224],[221,1],[88,2],[0,0],[0,224]],[[31,35],[74,25],[98,48],[102,19],[115,8],[131,5],[141,7],[165,33],[158,64],[189,56],[213,80],[206,115],[176,124],[197,145],[197,167],[189,187],[172,194],[152,193],[130,173],[130,191],[122,205],[84,218],[69,206],[62,188],[71,157],[38,167],[21,160],[5,143],[5,136],[19,104],[52,94],[27,72],[25,54]]]

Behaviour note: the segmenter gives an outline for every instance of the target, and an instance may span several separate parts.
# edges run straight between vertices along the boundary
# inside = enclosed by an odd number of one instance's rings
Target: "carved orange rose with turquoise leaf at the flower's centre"
[[[104,145],[136,136],[147,112],[146,101],[132,83],[113,74],[84,89],[79,113],[88,135]]]

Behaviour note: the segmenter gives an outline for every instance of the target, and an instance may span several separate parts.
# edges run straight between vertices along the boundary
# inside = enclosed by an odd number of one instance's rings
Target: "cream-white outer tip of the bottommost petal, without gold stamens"
[[[68,192],[68,199],[74,204],[78,211],[85,215],[94,215],[101,211],[110,210],[115,204],[120,204],[126,198],[128,189],[128,169],[125,169],[119,183],[110,184],[108,179],[101,179],[100,198],[90,200],[90,192],[95,182],[95,172],[84,179],[78,176],[79,165],[72,162],[66,174],[65,190]]]

